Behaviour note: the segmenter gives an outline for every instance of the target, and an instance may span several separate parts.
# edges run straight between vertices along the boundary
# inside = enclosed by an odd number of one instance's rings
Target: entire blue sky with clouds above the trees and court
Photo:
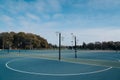
[[[0,32],[38,34],[57,44],[120,40],[120,0],[0,0]]]

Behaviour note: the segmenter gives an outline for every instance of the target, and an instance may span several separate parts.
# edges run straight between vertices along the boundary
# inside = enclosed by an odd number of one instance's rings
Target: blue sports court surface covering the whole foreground
[[[120,52],[0,51],[0,80],[120,80]]]

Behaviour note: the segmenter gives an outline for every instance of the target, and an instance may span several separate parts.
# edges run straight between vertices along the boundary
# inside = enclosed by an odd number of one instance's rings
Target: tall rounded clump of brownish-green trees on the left
[[[0,49],[40,49],[49,48],[46,39],[39,35],[24,32],[0,33]]]

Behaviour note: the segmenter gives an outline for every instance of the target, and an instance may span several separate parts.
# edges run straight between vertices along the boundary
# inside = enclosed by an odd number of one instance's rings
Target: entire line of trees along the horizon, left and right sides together
[[[66,49],[75,49],[75,46],[61,46]],[[57,45],[48,44],[43,37],[24,32],[2,32],[0,33],[0,49],[58,49]],[[120,41],[91,42],[77,45],[77,49],[84,50],[120,50]]]

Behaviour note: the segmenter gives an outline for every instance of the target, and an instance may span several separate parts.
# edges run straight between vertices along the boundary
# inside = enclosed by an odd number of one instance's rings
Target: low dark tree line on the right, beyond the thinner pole
[[[77,49],[84,49],[84,50],[120,50],[120,41],[104,41],[104,42],[91,42],[85,43],[83,42],[82,45],[77,45]],[[75,48],[75,46],[69,46],[69,49]]]

